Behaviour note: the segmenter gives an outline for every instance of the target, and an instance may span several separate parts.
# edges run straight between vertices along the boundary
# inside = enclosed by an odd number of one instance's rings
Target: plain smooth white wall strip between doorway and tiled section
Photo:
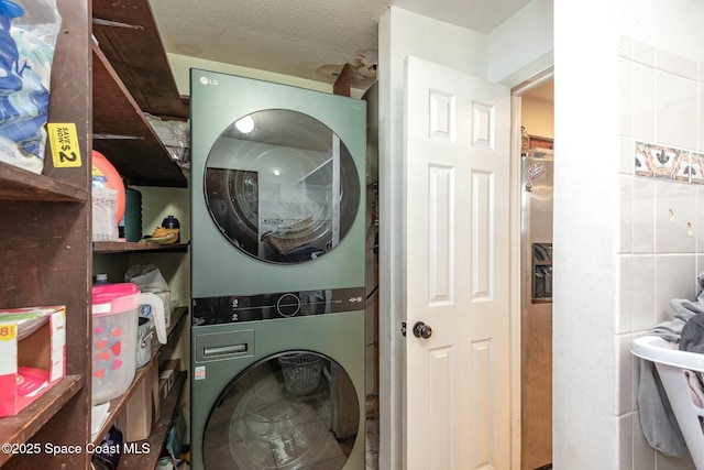
[[[617,35],[608,28],[605,11],[612,8],[561,1],[554,7],[553,466],[558,469],[627,468],[617,460],[614,416]],[[600,34],[586,34],[595,24]]]

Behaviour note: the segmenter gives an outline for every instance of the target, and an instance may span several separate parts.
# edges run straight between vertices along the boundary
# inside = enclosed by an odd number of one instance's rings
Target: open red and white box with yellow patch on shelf
[[[0,309],[0,416],[16,415],[65,375],[66,307]]]

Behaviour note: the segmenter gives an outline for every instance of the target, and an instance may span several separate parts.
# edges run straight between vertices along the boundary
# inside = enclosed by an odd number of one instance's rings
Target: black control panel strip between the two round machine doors
[[[364,287],[194,298],[193,325],[326,315],[365,308]]]

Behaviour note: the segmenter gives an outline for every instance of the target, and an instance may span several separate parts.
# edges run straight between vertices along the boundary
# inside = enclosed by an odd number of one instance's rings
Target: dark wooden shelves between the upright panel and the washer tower
[[[178,96],[164,53],[148,0],[94,1],[92,33],[92,142],[129,185],[185,188],[187,178],[173,161],[145,118],[186,120],[188,101]],[[188,243],[94,242],[94,254],[186,253]],[[120,259],[123,259],[120,256]],[[172,314],[172,336],[183,332],[188,309]],[[176,338],[173,339],[176,341]],[[152,361],[158,361],[162,345],[152,341]],[[148,375],[148,368],[136,371],[128,391],[110,402],[110,416],[96,435],[100,440],[124,409],[134,391]],[[147,455],[123,455],[119,468],[152,469],[163,448],[168,425],[186,383],[182,373],[163,401],[161,419],[147,439]]]

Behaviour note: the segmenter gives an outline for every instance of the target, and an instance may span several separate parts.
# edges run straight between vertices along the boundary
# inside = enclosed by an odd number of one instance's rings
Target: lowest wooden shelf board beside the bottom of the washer
[[[156,467],[156,461],[162,453],[162,449],[164,448],[164,441],[166,440],[166,435],[168,434],[168,429],[172,425],[172,418],[174,417],[174,413],[178,407],[178,403],[180,402],[180,395],[184,391],[184,385],[186,384],[187,378],[186,371],[180,371],[176,376],[176,381],[172,386],[170,392],[166,395],[166,398],[161,404],[161,417],[154,426],[152,427],[152,433],[144,440],[139,440],[136,444],[136,448],[142,448],[141,445],[146,442],[148,444],[150,451],[147,453],[129,453],[123,455],[120,459],[120,463],[118,464],[118,469],[152,469]]]

